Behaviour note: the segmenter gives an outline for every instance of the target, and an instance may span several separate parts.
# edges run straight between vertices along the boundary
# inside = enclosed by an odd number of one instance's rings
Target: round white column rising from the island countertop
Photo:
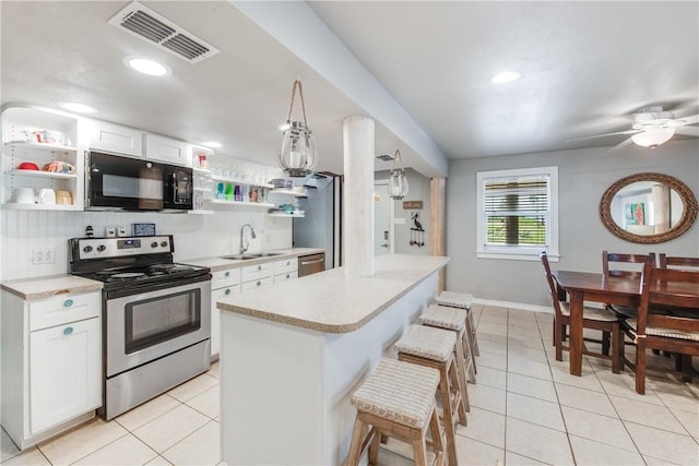
[[[374,120],[343,122],[345,275],[374,275]]]

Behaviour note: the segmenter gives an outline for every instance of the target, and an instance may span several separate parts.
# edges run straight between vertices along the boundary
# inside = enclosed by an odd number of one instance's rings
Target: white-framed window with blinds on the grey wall
[[[477,256],[558,258],[558,167],[478,171]]]

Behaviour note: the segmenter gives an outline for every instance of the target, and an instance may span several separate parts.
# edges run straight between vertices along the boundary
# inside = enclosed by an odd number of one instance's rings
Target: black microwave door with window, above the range
[[[163,164],[93,151],[85,166],[86,210],[163,210]]]

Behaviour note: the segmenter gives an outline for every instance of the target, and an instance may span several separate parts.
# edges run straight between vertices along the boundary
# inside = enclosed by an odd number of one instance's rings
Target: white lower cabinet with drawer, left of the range
[[[2,427],[24,450],[102,405],[102,294],[2,291]]]

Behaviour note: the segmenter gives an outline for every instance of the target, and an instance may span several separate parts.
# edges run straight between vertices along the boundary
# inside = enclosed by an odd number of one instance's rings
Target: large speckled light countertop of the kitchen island
[[[346,277],[344,267],[332,268],[273,288],[246,290],[216,306],[223,311],[303,328],[347,333],[362,327],[448,262],[449,258],[436,255],[381,255],[376,258],[371,277]]]

